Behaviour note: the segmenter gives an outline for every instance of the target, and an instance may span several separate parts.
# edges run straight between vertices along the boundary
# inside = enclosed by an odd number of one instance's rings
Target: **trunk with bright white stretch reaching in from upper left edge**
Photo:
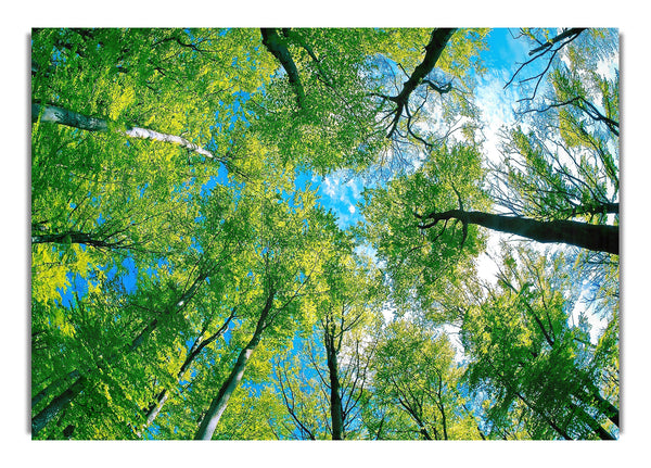
[[[79,114],[67,109],[59,107],[51,104],[31,103],[31,123],[37,121],[51,122],[54,124],[65,125],[68,127],[79,128],[88,131],[110,131],[112,127],[118,128],[117,125],[112,125],[110,121],[99,117],[90,117],[88,115]],[[215,156],[208,150],[195,144],[182,137],[176,135],[162,134],[159,131],[150,130],[141,127],[130,127],[117,129],[116,131],[130,137],[140,138],[145,140],[163,141],[165,143],[177,144],[184,148],[188,151],[195,152],[203,156],[212,160],[221,161],[221,159]]]

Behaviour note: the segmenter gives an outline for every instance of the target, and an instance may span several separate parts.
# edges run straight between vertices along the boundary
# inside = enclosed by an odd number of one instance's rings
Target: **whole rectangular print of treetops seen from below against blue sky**
[[[33,439],[617,439],[617,33],[498,33],[34,29]]]

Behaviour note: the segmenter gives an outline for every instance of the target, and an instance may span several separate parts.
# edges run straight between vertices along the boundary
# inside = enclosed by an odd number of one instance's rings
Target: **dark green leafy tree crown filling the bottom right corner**
[[[550,264],[525,250],[503,258],[498,284],[468,312],[462,329],[467,378],[487,393],[493,431],[509,439],[599,438],[595,427],[612,430],[595,403],[603,397],[604,374],[589,325],[573,325],[578,298],[563,275],[565,258]]]

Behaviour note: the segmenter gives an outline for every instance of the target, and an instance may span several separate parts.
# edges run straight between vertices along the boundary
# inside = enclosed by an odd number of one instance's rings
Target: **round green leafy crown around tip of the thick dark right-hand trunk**
[[[464,235],[461,224],[455,222],[433,229],[420,229],[419,225],[420,217],[459,208],[460,203],[465,210],[484,207],[482,178],[474,147],[442,147],[416,173],[363,192],[361,212],[367,224],[360,236],[386,262],[397,303],[417,301],[429,308],[437,292],[447,289],[448,278],[472,271],[472,258],[482,249],[482,232],[470,226]]]

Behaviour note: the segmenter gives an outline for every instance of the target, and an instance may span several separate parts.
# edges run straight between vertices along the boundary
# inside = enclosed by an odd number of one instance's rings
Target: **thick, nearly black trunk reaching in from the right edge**
[[[536,219],[496,215],[483,212],[449,210],[444,213],[430,213],[418,216],[424,223],[419,227],[427,229],[441,220],[459,219],[464,225],[473,224],[500,232],[518,235],[537,242],[560,242],[598,252],[620,254],[618,226],[591,225],[571,220],[539,222]]]

